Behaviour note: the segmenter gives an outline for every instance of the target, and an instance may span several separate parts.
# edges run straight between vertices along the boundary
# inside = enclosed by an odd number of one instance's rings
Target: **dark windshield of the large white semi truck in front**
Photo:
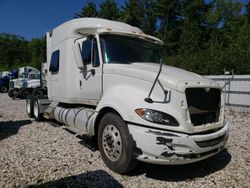
[[[104,63],[159,63],[161,46],[152,41],[122,35],[100,35]]]

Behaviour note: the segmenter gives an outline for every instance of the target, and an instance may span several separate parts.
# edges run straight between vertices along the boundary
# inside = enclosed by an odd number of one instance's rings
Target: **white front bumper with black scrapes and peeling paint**
[[[221,151],[228,139],[229,125],[210,134],[188,135],[128,124],[140,161],[154,164],[187,164]]]

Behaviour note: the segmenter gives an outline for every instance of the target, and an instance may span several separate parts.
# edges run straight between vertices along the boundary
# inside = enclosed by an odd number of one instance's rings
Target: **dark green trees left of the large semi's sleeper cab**
[[[45,59],[45,37],[27,41],[15,34],[0,34],[0,71],[10,71],[27,65],[40,69]]]

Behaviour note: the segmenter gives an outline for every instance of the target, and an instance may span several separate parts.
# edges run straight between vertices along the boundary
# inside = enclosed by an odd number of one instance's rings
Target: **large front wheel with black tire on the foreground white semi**
[[[114,172],[124,174],[136,166],[133,138],[119,115],[108,113],[101,119],[98,147],[104,163]]]

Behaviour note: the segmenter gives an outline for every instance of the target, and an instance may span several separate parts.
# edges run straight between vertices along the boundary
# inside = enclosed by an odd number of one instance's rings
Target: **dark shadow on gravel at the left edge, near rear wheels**
[[[0,141],[17,134],[20,127],[30,123],[31,120],[0,121]]]

